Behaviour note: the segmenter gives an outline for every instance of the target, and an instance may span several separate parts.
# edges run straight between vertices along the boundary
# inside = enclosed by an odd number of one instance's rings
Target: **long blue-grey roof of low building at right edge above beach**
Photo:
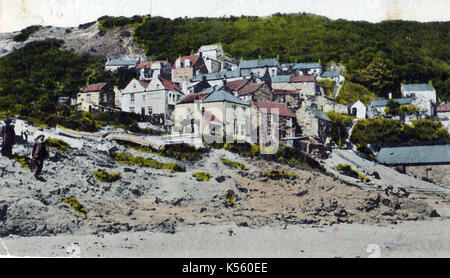
[[[382,148],[377,155],[382,164],[446,164],[450,163],[450,144]]]

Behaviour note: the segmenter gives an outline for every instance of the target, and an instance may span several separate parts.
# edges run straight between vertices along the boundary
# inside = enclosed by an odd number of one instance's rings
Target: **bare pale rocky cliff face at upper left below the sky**
[[[26,43],[37,40],[55,38],[64,40],[64,50],[72,50],[79,54],[88,54],[102,58],[117,58],[123,55],[144,56],[145,51],[134,41],[134,28],[118,28],[111,31],[100,31],[99,23],[87,23],[78,27],[43,26],[23,41],[14,41],[13,33],[0,33],[0,57],[8,55]]]

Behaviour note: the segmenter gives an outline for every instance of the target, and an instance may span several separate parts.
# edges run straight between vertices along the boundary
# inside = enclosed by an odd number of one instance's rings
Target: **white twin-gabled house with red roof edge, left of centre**
[[[174,82],[155,73],[150,82],[133,79],[122,90],[122,111],[151,116],[158,119],[155,124],[170,128],[175,104],[182,96]]]

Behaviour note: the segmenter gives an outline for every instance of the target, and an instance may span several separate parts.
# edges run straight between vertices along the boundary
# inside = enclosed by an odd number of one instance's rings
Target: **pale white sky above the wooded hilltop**
[[[0,0],[0,32],[78,26],[103,15],[221,17],[307,12],[330,19],[449,21],[450,0]]]

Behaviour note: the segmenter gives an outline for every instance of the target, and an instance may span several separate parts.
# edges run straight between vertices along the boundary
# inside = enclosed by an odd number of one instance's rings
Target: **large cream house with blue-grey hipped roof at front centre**
[[[177,103],[174,132],[226,135],[249,141],[250,104],[235,97],[226,87],[215,86],[207,91],[188,94]]]

